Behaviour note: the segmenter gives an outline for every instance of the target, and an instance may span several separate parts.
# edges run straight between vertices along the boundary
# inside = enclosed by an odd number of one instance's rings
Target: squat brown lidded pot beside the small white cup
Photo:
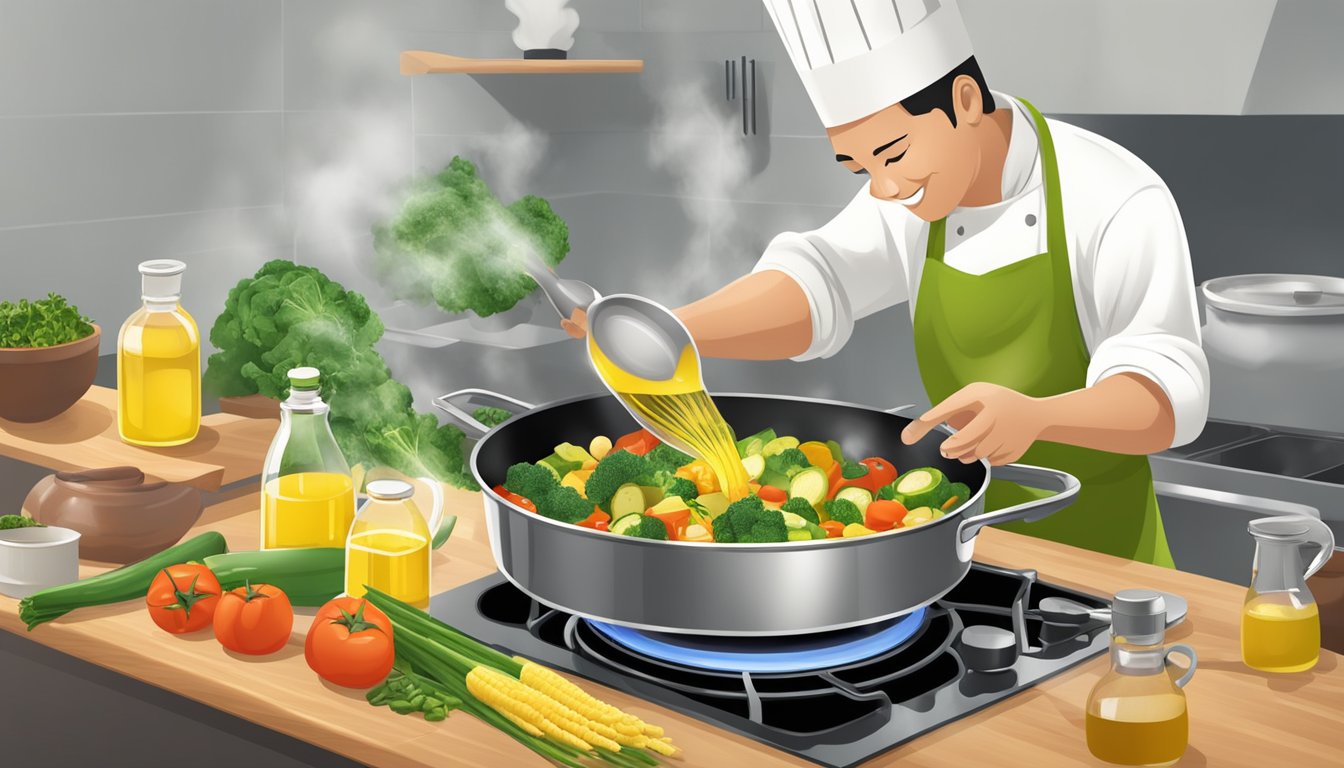
[[[118,564],[177,543],[203,508],[196,488],[145,483],[134,467],[47,475],[23,506],[39,523],[79,531],[79,557]]]

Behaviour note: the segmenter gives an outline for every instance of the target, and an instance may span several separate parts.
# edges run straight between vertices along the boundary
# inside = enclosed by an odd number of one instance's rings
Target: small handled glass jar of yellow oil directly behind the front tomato
[[[429,608],[429,551],[444,519],[444,488],[419,480],[434,495],[429,519],[415,506],[406,480],[370,480],[368,500],[355,516],[345,542],[345,594],[363,597],[366,586],[386,592],[417,608]]]

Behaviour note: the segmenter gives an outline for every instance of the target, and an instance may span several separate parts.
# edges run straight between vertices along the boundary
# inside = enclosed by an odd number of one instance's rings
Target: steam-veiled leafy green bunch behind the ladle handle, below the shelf
[[[374,227],[380,278],[399,299],[480,316],[504,312],[536,288],[531,254],[555,266],[570,230],[550,203],[528,195],[505,207],[453,157],[437,176],[413,182],[402,210]]]

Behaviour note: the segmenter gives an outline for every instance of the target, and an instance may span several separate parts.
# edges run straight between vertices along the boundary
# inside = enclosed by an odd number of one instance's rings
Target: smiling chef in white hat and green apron
[[[1070,472],[1071,507],[1004,527],[1172,566],[1146,455],[1203,429],[1208,363],[1167,186],[991,91],[954,0],[765,5],[836,161],[866,183],[677,311],[702,354],[827,358],[857,319],[907,303],[935,404],[907,444],[946,422],[943,456]],[[986,508],[1039,495],[993,482]]]

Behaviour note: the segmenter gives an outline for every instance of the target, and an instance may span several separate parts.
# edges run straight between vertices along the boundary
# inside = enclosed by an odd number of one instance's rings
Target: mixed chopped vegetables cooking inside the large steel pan
[[[836,441],[801,443],[766,429],[738,441],[751,494],[728,503],[710,467],[648,430],[587,449],[562,443],[535,464],[508,468],[495,491],[539,515],[660,541],[723,543],[852,538],[930,523],[970,488],[941,469],[898,472],[880,456],[852,460]]]

